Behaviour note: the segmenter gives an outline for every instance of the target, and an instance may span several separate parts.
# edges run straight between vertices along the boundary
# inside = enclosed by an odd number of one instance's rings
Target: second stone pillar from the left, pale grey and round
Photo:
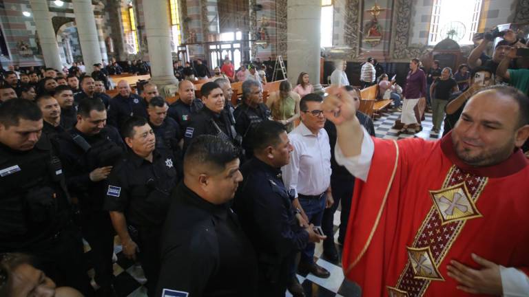
[[[81,52],[83,52],[83,62],[86,73],[90,74],[94,69],[93,65],[102,62],[92,0],[72,0],[72,4]]]

